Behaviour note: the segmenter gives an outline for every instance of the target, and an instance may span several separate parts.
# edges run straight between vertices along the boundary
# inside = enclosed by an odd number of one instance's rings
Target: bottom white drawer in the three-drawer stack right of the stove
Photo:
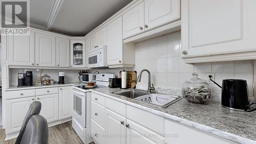
[[[99,124],[97,124],[96,121],[92,120],[91,124],[91,135],[94,139],[95,142],[99,144],[104,144],[105,143],[105,129],[102,128]]]

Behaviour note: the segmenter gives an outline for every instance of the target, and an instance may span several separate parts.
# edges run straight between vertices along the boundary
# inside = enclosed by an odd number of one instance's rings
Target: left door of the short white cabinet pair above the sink
[[[144,31],[144,1],[123,14],[123,38]]]

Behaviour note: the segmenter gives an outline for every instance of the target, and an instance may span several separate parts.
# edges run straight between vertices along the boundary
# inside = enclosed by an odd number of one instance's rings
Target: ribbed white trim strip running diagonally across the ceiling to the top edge
[[[48,16],[47,22],[46,22],[46,29],[49,31],[52,28],[52,25],[54,23],[54,20],[56,19],[56,16],[65,0],[55,0],[50,14]]]

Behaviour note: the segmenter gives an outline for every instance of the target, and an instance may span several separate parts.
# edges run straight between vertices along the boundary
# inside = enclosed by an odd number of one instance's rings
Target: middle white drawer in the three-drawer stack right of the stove
[[[92,119],[95,120],[101,127],[105,128],[105,108],[94,101],[92,101]]]

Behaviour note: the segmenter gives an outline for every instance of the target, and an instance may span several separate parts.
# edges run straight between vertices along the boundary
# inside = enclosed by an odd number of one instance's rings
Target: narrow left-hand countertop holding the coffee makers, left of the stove
[[[86,85],[82,82],[73,82],[73,83],[65,83],[65,84],[50,84],[50,85],[33,85],[33,86],[25,86],[25,87],[17,87],[11,86],[5,89],[5,91],[16,91],[16,90],[29,90],[29,89],[40,89],[40,88],[52,88],[52,87],[66,87],[66,86],[79,86]]]

